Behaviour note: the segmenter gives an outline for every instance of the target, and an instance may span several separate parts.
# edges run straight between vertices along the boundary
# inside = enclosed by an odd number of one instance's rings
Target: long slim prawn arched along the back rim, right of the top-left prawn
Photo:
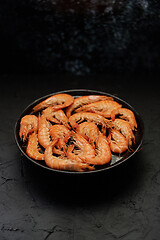
[[[89,95],[89,96],[78,97],[74,100],[72,105],[70,105],[66,109],[66,115],[69,118],[72,112],[75,111],[77,108],[82,107],[83,105],[86,105],[86,104],[94,103],[94,102],[105,100],[105,99],[112,100],[113,98],[108,96],[103,96],[103,95]]]

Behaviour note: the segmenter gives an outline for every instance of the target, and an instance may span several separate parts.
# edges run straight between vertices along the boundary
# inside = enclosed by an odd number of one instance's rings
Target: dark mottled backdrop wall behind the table
[[[3,73],[160,68],[157,0],[1,0]]]

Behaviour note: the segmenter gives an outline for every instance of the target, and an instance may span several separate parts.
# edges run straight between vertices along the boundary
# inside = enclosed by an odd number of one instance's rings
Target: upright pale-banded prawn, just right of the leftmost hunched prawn
[[[44,148],[51,144],[51,138],[49,134],[50,126],[51,124],[47,121],[47,119],[43,115],[39,115],[38,141]]]

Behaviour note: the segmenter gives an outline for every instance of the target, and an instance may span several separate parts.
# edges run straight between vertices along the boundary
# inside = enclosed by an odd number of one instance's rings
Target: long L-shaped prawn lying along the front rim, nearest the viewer
[[[53,148],[56,145],[58,139],[54,140],[44,152],[44,160],[48,167],[57,170],[69,170],[69,171],[87,171],[94,170],[94,167],[89,166],[86,163],[76,162],[68,158],[56,157],[53,155]]]

